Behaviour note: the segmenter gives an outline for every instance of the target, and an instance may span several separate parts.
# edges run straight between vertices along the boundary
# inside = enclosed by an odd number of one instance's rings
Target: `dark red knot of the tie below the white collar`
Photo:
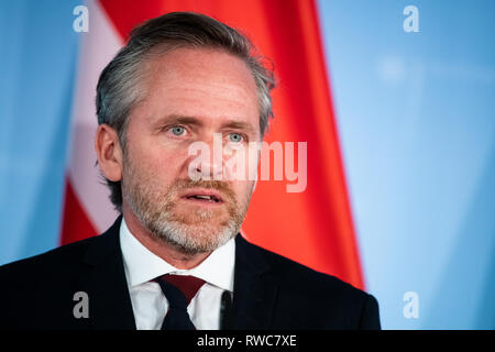
[[[195,277],[195,276],[173,275],[173,274],[163,275],[157,278],[157,282],[158,282],[158,284],[161,284],[160,286],[162,287],[162,290],[168,300],[170,300],[170,298],[173,298],[173,297],[176,297],[177,295],[174,295],[174,293],[170,293],[170,288],[168,287],[168,285],[163,285],[163,284],[167,283],[167,284],[173,285],[173,287],[177,288],[186,298],[186,302],[182,301],[180,298],[176,298],[176,299],[172,299],[172,300],[175,300],[175,302],[170,302],[170,304],[180,305],[180,306],[185,305],[186,307],[189,305],[193,297],[196,296],[199,288],[201,288],[201,286],[205,284],[205,280],[202,280],[198,277]]]

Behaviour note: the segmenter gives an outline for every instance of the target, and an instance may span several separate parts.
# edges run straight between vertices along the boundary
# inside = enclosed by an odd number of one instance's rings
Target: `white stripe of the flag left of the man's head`
[[[110,191],[101,184],[94,141],[98,127],[96,87],[105,66],[122,40],[98,1],[89,1],[89,32],[84,35],[73,108],[73,139],[68,175],[75,193],[99,232],[117,218],[109,200]]]

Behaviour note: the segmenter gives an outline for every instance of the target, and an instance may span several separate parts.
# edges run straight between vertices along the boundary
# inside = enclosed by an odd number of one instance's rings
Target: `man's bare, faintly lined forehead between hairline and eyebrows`
[[[211,54],[215,55],[210,56]],[[198,56],[212,59],[198,61]],[[250,130],[257,133],[257,87],[250,68],[241,59],[227,53],[222,55],[218,51],[177,48],[150,58],[145,65],[148,75],[145,79],[147,89],[143,108],[151,110],[156,117],[154,121],[165,121],[164,116],[158,112],[162,110],[168,112],[169,117],[189,117],[204,123],[218,119],[226,127],[229,127],[226,119],[242,121],[249,125],[254,123]],[[249,117],[235,116],[237,112],[249,112]]]

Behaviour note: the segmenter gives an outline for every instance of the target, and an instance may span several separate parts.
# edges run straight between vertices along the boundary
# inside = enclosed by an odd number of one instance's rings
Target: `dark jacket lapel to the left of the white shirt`
[[[135,330],[131,297],[120,250],[119,217],[97,237],[84,257],[87,271],[80,276],[89,297],[89,322],[94,329]]]

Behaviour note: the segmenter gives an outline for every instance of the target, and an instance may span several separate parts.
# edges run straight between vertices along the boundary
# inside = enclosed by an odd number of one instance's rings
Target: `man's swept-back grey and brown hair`
[[[119,135],[125,153],[125,131],[133,107],[145,98],[140,87],[145,75],[143,62],[160,48],[160,54],[179,47],[208,47],[226,51],[241,58],[250,68],[257,88],[260,132],[263,136],[273,118],[271,90],[273,72],[265,68],[248,37],[210,16],[193,12],[170,12],[135,28],[127,45],[119,51],[100,75],[96,107],[98,123],[107,123]],[[163,51],[162,51],[163,48]],[[111,190],[110,200],[122,211],[121,182],[105,178]]]

